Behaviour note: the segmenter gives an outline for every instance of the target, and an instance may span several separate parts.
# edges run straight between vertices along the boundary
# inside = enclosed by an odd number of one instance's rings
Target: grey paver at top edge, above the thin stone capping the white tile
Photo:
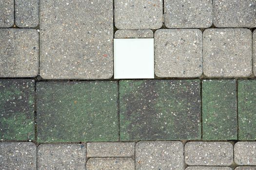
[[[115,0],[118,29],[159,29],[163,24],[163,0]]]

